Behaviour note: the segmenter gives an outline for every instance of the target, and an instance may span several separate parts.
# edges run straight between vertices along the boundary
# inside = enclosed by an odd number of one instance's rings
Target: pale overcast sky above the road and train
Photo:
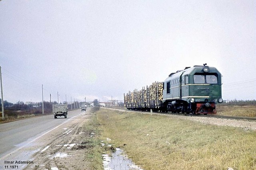
[[[256,99],[255,0],[2,0],[4,100],[123,100],[186,66],[216,67],[224,100]]]

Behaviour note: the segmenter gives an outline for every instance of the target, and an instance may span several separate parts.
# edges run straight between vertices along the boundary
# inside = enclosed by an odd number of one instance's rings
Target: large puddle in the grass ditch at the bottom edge
[[[131,159],[122,155],[122,150],[116,148],[116,152],[112,156],[102,154],[104,170],[143,170],[132,162]]]

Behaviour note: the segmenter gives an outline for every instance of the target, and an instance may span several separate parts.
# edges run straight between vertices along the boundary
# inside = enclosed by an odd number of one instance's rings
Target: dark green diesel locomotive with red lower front
[[[222,103],[221,74],[215,67],[186,67],[164,80],[163,107],[182,113],[216,113]]]

